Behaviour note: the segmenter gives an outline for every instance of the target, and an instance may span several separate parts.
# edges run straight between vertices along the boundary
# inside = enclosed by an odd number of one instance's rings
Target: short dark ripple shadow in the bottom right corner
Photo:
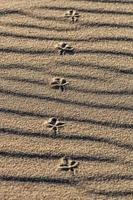
[[[103,195],[107,197],[126,197],[133,196],[133,191],[91,191],[95,195]]]

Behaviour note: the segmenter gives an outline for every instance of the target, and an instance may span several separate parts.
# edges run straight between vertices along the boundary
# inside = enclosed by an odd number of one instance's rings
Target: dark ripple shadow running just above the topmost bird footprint
[[[37,9],[44,9],[44,10],[75,10],[75,7],[58,7],[58,6],[41,6],[37,7]],[[84,13],[93,13],[93,14],[111,14],[111,15],[127,15],[132,16],[133,12],[126,12],[126,11],[117,11],[117,10],[106,10],[106,9],[86,9],[86,8],[76,8],[78,12]]]

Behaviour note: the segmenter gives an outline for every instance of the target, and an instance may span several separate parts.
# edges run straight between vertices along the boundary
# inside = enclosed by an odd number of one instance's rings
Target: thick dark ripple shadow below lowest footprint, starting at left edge
[[[65,178],[52,177],[26,177],[26,176],[0,176],[1,181],[13,182],[29,182],[29,183],[45,183],[45,184],[60,184],[60,185],[75,185],[77,181]]]

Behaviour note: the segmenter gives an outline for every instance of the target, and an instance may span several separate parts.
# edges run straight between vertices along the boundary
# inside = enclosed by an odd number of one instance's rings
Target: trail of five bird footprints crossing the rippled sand
[[[72,23],[75,23],[75,22],[78,22],[80,15],[75,10],[69,10],[65,13],[64,17],[68,18]],[[74,48],[69,46],[65,42],[61,42],[57,44],[55,48],[57,49],[59,55],[65,55],[65,54],[73,55],[74,54]],[[59,78],[59,77],[53,78],[50,83],[51,88],[59,89],[62,92],[65,91],[68,84],[69,82],[67,82],[66,79]],[[59,129],[65,126],[65,122],[62,122],[55,117],[52,117],[48,119],[44,123],[44,125],[53,132],[53,135],[56,135],[56,134],[59,134]],[[64,172],[71,172],[71,174],[75,176],[78,166],[79,166],[79,162],[76,162],[72,160],[71,158],[65,156],[60,160],[58,169]]]

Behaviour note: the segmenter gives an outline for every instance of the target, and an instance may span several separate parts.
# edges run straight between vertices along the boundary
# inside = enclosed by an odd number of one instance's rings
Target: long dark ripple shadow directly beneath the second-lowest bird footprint
[[[11,113],[11,111],[10,111]],[[25,115],[26,112],[19,112],[17,113],[17,111],[12,112],[12,114],[18,114],[20,116]],[[50,117],[50,116],[48,116]],[[110,138],[104,138],[104,137],[97,137],[97,136],[89,136],[89,135],[77,135],[77,134],[68,134],[68,135],[63,135],[63,134],[59,134],[59,135],[52,135],[52,134],[48,134],[48,133],[43,133],[43,132],[29,132],[29,131],[23,131],[23,130],[17,130],[17,129],[8,129],[8,128],[0,128],[0,132],[1,133],[9,133],[9,134],[13,134],[13,135],[19,135],[19,136],[26,136],[26,137],[42,137],[42,138],[51,138],[51,139],[61,139],[61,140],[77,140],[77,141],[85,141],[85,142],[96,142],[96,143],[102,143],[102,144],[108,144],[111,146],[115,146],[115,147],[119,147],[122,149],[127,149],[129,151],[133,151],[133,144],[130,143],[122,143],[121,141],[116,141],[116,140],[112,140]]]

